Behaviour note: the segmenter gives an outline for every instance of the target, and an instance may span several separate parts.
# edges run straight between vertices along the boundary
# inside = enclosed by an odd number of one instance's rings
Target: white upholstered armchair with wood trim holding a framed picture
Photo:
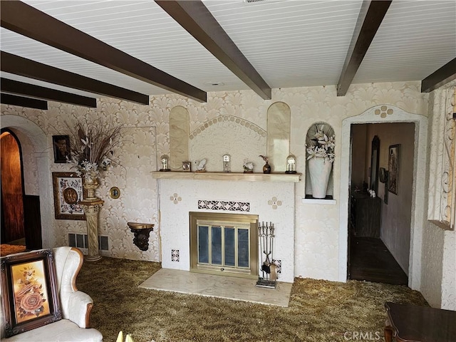
[[[76,276],[83,264],[83,254],[73,247],[58,247],[53,249],[58,296],[61,302],[62,319],[46,326],[19,333],[4,338],[4,308],[1,314],[1,341],[81,341],[101,342],[100,331],[89,327],[92,299],[88,294],[76,288]]]

